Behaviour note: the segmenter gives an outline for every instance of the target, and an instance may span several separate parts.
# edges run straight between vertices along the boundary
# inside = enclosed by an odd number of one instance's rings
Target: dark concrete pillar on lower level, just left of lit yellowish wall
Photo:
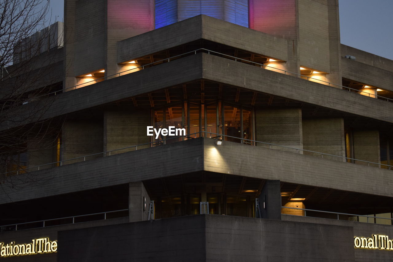
[[[281,192],[279,180],[267,180],[259,195],[261,218],[281,220]],[[259,217],[259,214],[257,214]]]

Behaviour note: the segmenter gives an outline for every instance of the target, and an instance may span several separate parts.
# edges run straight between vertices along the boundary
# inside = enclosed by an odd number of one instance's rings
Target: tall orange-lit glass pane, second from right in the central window
[[[238,107],[230,105],[224,105],[224,132],[226,141],[240,143],[241,140],[235,137],[242,137],[241,122],[240,122],[241,110]]]

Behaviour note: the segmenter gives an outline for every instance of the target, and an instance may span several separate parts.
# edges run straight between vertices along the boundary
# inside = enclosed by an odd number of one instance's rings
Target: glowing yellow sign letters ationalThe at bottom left
[[[57,241],[49,241],[49,238],[37,238],[28,244],[0,243],[0,256],[32,255],[38,253],[50,253],[57,251]]]

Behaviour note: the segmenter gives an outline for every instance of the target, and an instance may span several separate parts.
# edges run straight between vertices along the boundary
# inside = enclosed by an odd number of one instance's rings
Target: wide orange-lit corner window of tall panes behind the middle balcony
[[[252,110],[241,105],[234,105],[221,101],[198,104],[192,102],[176,103],[153,110],[153,126],[156,129],[185,128],[187,137],[169,138],[169,136],[153,136],[156,143],[168,144],[188,138],[208,137],[217,138],[226,135],[223,139],[243,144],[253,144],[243,139],[253,139]],[[204,133],[200,133],[203,132]],[[165,140],[165,141],[164,141]]]

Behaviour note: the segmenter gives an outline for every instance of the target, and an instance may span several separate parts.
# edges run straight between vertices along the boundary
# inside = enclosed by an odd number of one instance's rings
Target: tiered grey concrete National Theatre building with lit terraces
[[[2,259],[393,260],[393,61],[340,44],[338,0],[64,10],[9,109],[61,125],[3,173]]]

